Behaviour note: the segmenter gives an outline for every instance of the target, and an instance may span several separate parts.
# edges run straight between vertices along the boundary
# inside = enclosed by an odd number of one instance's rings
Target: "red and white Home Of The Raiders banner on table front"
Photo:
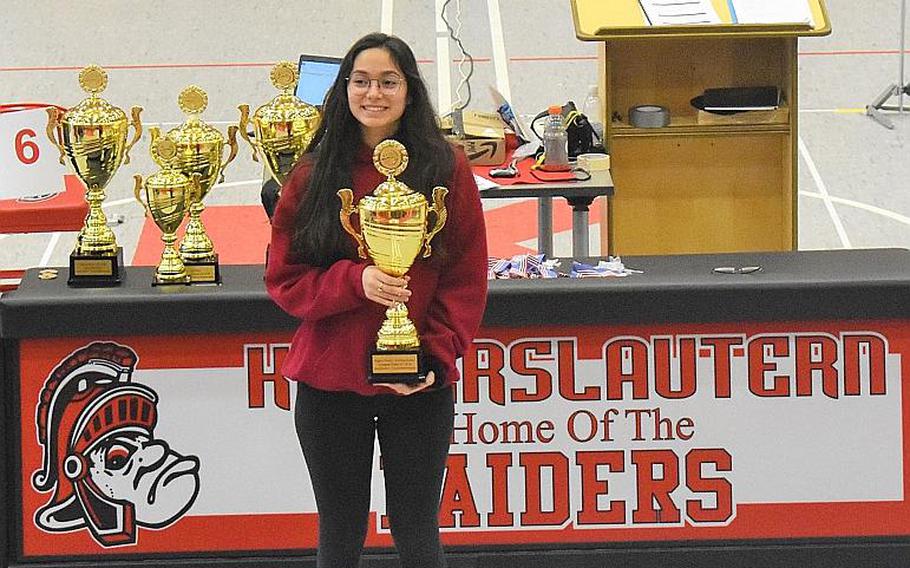
[[[314,548],[288,341],[23,341],[25,555]],[[905,322],[481,330],[445,542],[910,535],[908,350]]]

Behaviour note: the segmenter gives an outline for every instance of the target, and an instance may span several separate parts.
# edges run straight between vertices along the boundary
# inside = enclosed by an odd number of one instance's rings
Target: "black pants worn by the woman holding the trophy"
[[[298,383],[295,423],[319,511],[318,568],[356,568],[370,510],[373,440],[386,512],[404,568],[446,565],[439,495],[454,402],[445,388],[411,396],[360,396]]]

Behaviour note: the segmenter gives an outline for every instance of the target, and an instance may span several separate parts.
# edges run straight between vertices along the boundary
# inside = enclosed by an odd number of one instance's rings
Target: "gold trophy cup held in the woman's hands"
[[[387,176],[373,195],[367,195],[354,208],[354,193],[338,190],[341,199],[341,226],[357,241],[361,258],[372,258],[386,274],[401,277],[411,268],[423,249],[430,256],[430,241],[446,223],[445,196],[442,186],[433,188],[433,206],[429,207],[423,194],[412,191],[395,179],[408,167],[408,152],[400,142],[384,140],[373,150],[373,165]],[[351,214],[360,217],[360,231],[351,225]],[[427,228],[427,214],[432,211],[436,220]],[[368,256],[369,255],[369,256]],[[370,353],[370,383],[406,383],[422,381],[429,372],[429,361],[421,349],[414,323],[408,309],[397,302],[386,310],[386,319],[379,329],[376,349]]]

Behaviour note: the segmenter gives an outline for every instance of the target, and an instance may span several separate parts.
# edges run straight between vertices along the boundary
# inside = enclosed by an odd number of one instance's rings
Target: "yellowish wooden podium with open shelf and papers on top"
[[[572,0],[575,31],[601,42],[604,138],[616,194],[601,250],[667,254],[797,247],[797,40],[831,32],[823,0],[814,25],[650,26],[637,0]],[[712,0],[731,22],[726,0]],[[776,85],[776,112],[720,117],[691,105],[705,88]],[[652,104],[669,126],[634,128]]]

